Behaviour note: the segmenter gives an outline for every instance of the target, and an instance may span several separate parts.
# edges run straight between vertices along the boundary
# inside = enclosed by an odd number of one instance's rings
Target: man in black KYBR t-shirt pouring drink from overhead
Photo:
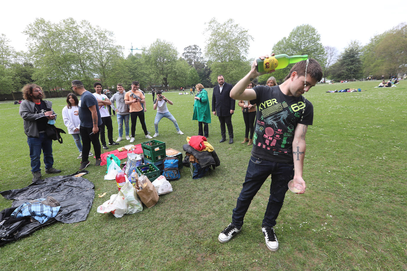
[[[261,56],[260,59],[268,57]],[[298,194],[303,194],[306,188],[302,168],[305,134],[308,125],[313,122],[313,106],[302,95],[321,80],[322,69],[315,59],[300,61],[292,67],[281,85],[246,89],[254,78],[266,73],[257,72],[256,66],[254,61],[251,71],[230,91],[231,98],[250,100],[251,104],[257,104],[258,110],[245,182],[233,209],[232,223],[219,234],[218,240],[228,242],[241,231],[253,197],[271,174],[270,197],[261,230],[267,249],[277,251],[278,240],[273,227],[282,208],[288,182],[293,179],[294,186],[301,188]]]

